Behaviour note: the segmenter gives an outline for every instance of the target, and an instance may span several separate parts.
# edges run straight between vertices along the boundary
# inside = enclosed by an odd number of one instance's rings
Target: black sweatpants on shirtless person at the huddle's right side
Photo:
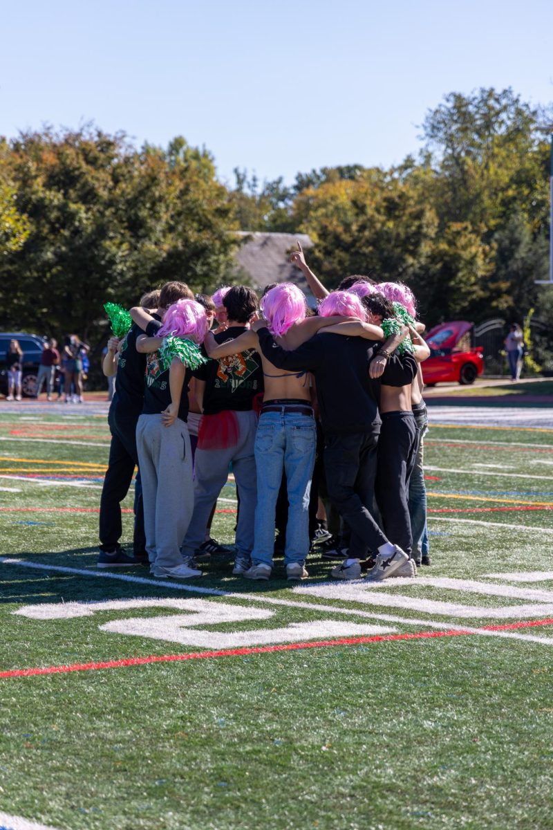
[[[417,452],[417,428],[411,412],[382,413],[378,440],[376,501],[386,536],[411,555],[409,479]]]

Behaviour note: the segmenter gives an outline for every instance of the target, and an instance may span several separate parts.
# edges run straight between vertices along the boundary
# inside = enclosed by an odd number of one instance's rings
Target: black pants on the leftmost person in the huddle
[[[121,525],[121,501],[129,492],[134,467],[138,463],[136,450],[136,424],[138,414],[117,417],[114,407],[109,408],[108,423],[111,432],[108,469],[99,502],[99,540],[101,549],[113,550],[123,533]],[[134,494],[133,553],[142,554],[146,549],[144,535],[144,510],[142,487]]]

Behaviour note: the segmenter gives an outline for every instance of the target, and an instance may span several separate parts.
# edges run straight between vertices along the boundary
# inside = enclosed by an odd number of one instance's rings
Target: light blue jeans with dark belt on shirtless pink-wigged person
[[[309,494],[316,444],[313,417],[301,413],[261,413],[255,435],[257,507],[253,564],[273,564],[274,514],[283,470],[289,500],[284,564],[305,562],[309,552]]]

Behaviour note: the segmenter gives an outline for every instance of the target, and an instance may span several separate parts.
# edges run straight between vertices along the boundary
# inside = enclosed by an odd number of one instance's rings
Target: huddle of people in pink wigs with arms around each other
[[[320,300],[316,314],[292,283],[258,300],[246,286],[210,298],[169,282],[109,339],[103,369],[116,385],[99,568],[201,576],[199,563],[224,551],[211,520],[229,471],[237,576],[269,579],[275,541],[290,580],[308,576],[313,543],[341,560],[334,579],[413,577],[429,564],[420,371],[429,348],[415,298],[366,276],[329,293],[301,247],[292,260]],[[135,464],[129,555],[120,502]]]

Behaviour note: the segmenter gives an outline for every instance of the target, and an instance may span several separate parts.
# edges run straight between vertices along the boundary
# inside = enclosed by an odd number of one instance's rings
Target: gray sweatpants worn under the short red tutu
[[[194,513],[182,544],[185,559],[194,555],[206,536],[206,527],[217,497],[229,476],[229,465],[235,474],[240,493],[240,510],[236,525],[236,554],[250,556],[254,547],[254,516],[257,501],[255,471],[255,432],[257,415],[254,412],[235,413],[238,438],[233,447],[217,450],[196,449],[194,457]]]

